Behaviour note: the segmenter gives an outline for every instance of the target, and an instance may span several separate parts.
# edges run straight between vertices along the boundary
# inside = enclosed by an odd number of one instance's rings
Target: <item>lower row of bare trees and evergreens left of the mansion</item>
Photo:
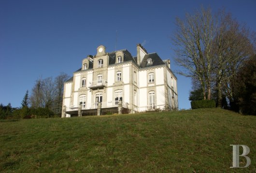
[[[61,73],[57,77],[39,77],[28,90],[21,102],[21,107],[12,108],[11,103],[0,104],[0,119],[50,118],[61,117],[64,82],[68,74]]]

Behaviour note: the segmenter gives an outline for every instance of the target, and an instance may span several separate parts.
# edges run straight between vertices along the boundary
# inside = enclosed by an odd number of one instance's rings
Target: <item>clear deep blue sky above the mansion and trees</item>
[[[21,106],[35,80],[72,75],[86,55],[104,45],[107,52],[136,44],[174,62],[171,36],[175,17],[200,6],[225,8],[256,31],[256,0],[0,0],[0,103]],[[178,77],[180,109],[189,109],[189,78]]]

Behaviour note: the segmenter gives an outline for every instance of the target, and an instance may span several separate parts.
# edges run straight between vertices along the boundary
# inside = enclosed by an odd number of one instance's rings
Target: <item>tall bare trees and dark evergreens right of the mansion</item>
[[[179,74],[192,78],[189,99],[213,99],[216,107],[256,114],[255,32],[225,10],[203,7],[176,18],[176,26],[175,62],[184,67]]]

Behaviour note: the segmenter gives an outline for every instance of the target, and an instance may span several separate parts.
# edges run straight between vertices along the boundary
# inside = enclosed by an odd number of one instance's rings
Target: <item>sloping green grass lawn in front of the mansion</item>
[[[250,148],[248,168],[229,168],[231,144]],[[256,116],[198,109],[1,121],[0,172],[255,173]]]

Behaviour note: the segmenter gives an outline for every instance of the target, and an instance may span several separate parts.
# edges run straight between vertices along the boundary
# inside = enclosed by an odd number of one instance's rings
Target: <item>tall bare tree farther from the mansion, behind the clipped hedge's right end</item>
[[[218,13],[216,36],[213,40],[214,74],[217,106],[221,107],[222,95],[233,98],[232,80],[242,62],[253,55],[253,46],[248,39],[250,31],[241,26],[230,14]]]

